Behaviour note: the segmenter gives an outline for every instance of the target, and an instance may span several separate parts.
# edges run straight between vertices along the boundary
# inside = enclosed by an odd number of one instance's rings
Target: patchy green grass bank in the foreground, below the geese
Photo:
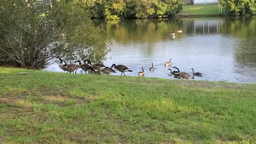
[[[252,84],[0,68],[0,98],[0,143],[256,143]]]

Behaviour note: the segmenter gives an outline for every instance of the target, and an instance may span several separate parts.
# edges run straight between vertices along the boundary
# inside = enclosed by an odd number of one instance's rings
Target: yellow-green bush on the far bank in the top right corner
[[[225,11],[231,15],[256,14],[255,0],[219,0],[219,5],[225,7]]]

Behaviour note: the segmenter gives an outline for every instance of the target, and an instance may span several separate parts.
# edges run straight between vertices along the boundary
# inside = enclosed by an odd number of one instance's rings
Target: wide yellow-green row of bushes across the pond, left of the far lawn
[[[116,20],[120,18],[164,18],[182,10],[184,0],[74,0],[92,18]]]

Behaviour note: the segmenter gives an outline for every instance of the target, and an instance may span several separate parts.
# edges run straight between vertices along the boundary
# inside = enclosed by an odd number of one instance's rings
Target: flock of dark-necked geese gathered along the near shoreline
[[[77,60],[75,61],[75,63],[71,63],[71,64],[67,64],[65,60],[61,59],[60,57],[57,57],[60,60],[60,68],[64,71],[67,71],[67,73],[74,73],[76,74],[76,71],[78,69],[83,69],[85,71],[85,74],[88,73],[94,73],[94,74],[98,74],[100,75],[100,73],[103,74],[107,74],[109,75],[110,73],[116,73],[116,70],[121,72],[121,76],[124,74],[125,76],[125,72],[130,71],[132,72],[131,69],[127,68],[125,65],[116,65],[115,63],[109,68],[103,65],[102,62],[100,63],[95,63],[92,65],[91,61],[88,59],[84,59],[83,62],[84,64],[81,63],[81,60]],[[79,62],[79,65],[76,64],[76,62]],[[150,71],[154,71],[154,66],[153,63],[151,63],[152,67],[149,68]],[[171,66],[171,59],[168,62],[164,63],[165,67],[170,67]],[[115,68],[116,70],[114,70],[113,68]],[[177,67],[172,67],[175,68],[177,70],[173,70],[171,68],[169,68],[168,70],[171,71],[170,75],[174,75],[175,78],[182,78],[182,79],[189,79],[189,78],[194,78],[194,76],[202,76],[201,73],[194,73],[194,69],[191,68],[193,70],[193,76],[189,75],[188,73],[184,72],[184,71],[180,71]],[[145,70],[144,67],[142,66],[142,71],[140,71],[138,73],[138,76],[144,76],[145,75]]]

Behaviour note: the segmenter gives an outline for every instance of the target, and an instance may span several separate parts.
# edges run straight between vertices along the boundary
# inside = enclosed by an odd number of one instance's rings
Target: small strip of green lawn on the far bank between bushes
[[[182,11],[175,15],[221,15],[218,4],[187,4],[182,6]]]

